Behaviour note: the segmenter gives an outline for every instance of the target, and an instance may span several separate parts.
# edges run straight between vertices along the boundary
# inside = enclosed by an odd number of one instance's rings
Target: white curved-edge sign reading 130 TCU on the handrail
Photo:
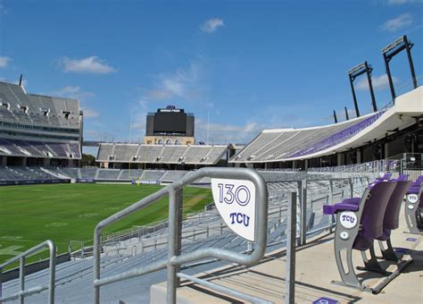
[[[214,204],[228,227],[248,241],[254,241],[255,186],[253,182],[211,179]]]

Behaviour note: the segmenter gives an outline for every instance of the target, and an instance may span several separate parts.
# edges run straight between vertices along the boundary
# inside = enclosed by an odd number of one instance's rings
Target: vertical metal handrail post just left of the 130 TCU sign
[[[170,264],[170,259],[180,254],[181,248],[181,221],[180,218],[182,207],[182,189],[169,190],[169,244],[168,244],[168,286],[167,286],[167,302],[168,304],[176,303],[176,289],[179,285],[178,272],[180,266]],[[178,223],[179,222],[179,223]],[[176,229],[174,229],[176,228]]]

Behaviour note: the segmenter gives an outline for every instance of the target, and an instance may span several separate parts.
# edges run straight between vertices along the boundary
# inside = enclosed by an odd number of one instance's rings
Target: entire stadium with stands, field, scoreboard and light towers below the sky
[[[0,81],[0,302],[421,300],[412,46],[402,36],[382,50],[383,106],[361,63],[347,72],[355,117],[242,145],[198,141],[195,114],[173,105],[146,114],[143,142],[89,140],[78,99]],[[411,82],[396,92],[389,62],[401,52]],[[354,90],[364,74],[368,114]]]

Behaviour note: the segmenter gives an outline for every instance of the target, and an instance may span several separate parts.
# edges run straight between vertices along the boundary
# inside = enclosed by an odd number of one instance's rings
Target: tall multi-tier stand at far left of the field
[[[78,100],[0,81],[0,165],[77,166],[82,133]]]

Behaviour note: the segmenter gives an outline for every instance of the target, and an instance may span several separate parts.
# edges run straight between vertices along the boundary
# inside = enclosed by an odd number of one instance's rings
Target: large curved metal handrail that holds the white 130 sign
[[[256,187],[256,208],[255,208],[255,243],[253,252],[250,255],[240,254],[227,249],[198,249],[193,252],[178,255],[180,251],[180,219],[182,208],[182,189],[185,185],[195,182],[203,177],[228,178],[236,180],[248,180]],[[120,219],[132,215],[138,210],[147,207],[160,198],[169,195],[169,253],[168,259],[129,270],[122,274],[100,278],[100,253],[101,234],[105,227],[118,222]],[[219,258],[228,262],[238,263],[245,266],[257,264],[264,256],[267,245],[267,222],[268,222],[268,190],[262,176],[252,169],[245,168],[202,168],[194,173],[187,174],[178,182],[174,182],[162,190],[145,197],[137,203],[109,216],[96,225],[94,232],[94,300],[100,303],[100,287],[115,283],[142,274],[152,273],[168,268],[167,299],[169,303],[176,302],[176,287],[178,286],[178,268],[182,264],[193,262],[202,258]]]

